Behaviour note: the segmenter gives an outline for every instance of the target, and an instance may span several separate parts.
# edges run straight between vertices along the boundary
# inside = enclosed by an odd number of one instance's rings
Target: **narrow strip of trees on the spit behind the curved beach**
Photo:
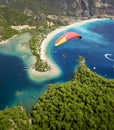
[[[56,25],[49,21],[42,21],[42,25],[37,26],[36,30],[33,32],[32,38],[29,41],[30,49],[32,54],[36,57],[36,63],[34,65],[35,69],[44,72],[50,70],[50,66],[47,62],[41,60],[40,58],[40,46],[47,34],[54,30]]]

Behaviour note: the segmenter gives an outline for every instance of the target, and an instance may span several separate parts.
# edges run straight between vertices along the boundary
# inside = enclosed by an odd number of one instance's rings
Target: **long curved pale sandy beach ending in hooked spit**
[[[69,29],[71,27],[78,26],[78,25],[81,25],[81,24],[86,24],[88,22],[93,22],[93,21],[96,21],[96,20],[103,20],[103,19],[97,19],[96,18],[96,19],[89,19],[89,20],[79,21],[79,22],[70,24],[68,26],[62,26],[62,27],[56,29],[55,31],[49,33],[47,35],[47,37],[43,40],[42,44],[41,44],[41,52],[40,52],[41,55],[40,56],[41,56],[41,59],[43,61],[46,61],[48,63],[48,65],[50,65],[51,70],[47,71],[47,72],[38,72],[34,68],[30,67],[30,69],[29,69],[30,78],[32,78],[33,80],[36,80],[36,81],[39,81],[39,80],[42,81],[42,80],[49,79],[49,77],[54,78],[54,77],[59,76],[61,74],[61,70],[46,55],[46,48],[47,48],[50,40],[61,31],[67,30],[67,29]]]

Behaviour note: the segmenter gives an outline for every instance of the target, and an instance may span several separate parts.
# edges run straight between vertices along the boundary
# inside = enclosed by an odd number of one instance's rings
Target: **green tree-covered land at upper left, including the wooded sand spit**
[[[25,24],[36,26],[36,29],[33,30],[21,30],[21,33],[24,31],[29,31],[32,34],[29,45],[32,54],[36,57],[36,63],[34,67],[38,71],[47,71],[50,69],[50,66],[40,59],[40,45],[49,32],[54,30],[57,26],[65,25],[66,23],[63,23],[59,20],[50,20],[41,13],[28,16],[5,6],[0,7],[0,41],[6,40],[13,35],[20,33],[19,31],[11,28],[12,25]]]

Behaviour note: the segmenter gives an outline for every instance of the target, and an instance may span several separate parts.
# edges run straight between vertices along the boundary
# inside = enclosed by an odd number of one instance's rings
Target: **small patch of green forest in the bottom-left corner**
[[[23,107],[0,111],[0,130],[30,130],[30,120]]]

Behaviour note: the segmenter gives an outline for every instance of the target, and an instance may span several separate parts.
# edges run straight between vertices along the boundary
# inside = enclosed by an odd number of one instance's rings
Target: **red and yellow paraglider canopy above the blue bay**
[[[65,34],[63,34],[62,36],[60,36],[56,42],[55,42],[55,46],[59,46],[63,43],[65,43],[66,41],[68,40],[71,40],[73,38],[78,38],[78,39],[81,39],[82,36],[76,32],[67,32]]]

